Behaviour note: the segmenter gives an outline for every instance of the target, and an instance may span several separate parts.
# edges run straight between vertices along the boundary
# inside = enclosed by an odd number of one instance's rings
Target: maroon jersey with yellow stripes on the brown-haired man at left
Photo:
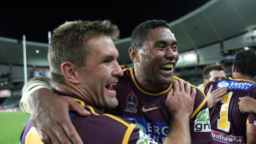
[[[87,117],[82,117],[72,111],[69,113],[84,144],[136,144],[136,142],[156,144],[129,120],[104,114],[78,96],[60,92],[58,94],[71,96],[80,102],[87,111],[91,112],[90,116]],[[21,144],[42,144],[31,118],[23,129],[20,138]]]

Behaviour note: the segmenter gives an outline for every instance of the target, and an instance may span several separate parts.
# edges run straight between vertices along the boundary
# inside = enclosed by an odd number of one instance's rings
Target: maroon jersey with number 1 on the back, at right
[[[210,109],[212,137],[216,144],[246,143],[246,124],[256,125],[256,114],[241,113],[239,97],[249,96],[256,99],[256,85],[253,81],[243,79],[224,79],[209,81],[203,91],[207,94],[210,86],[213,90],[220,87],[228,89],[226,98]]]

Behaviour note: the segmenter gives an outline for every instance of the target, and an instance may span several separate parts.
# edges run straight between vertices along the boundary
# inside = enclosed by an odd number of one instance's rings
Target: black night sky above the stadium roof
[[[139,1],[139,0],[137,0]],[[149,1],[149,0],[148,0]],[[111,20],[121,31],[120,38],[130,37],[132,30],[146,20],[172,22],[206,4],[209,0],[156,1],[136,4],[63,4],[63,6],[0,6],[0,37],[48,42],[48,31],[65,21]]]

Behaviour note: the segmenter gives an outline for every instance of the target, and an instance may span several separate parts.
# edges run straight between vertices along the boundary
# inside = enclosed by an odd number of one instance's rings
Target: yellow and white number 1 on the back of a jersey
[[[229,132],[230,122],[228,121],[228,109],[233,92],[225,94],[225,98],[221,101],[221,111],[219,113],[219,119],[217,119],[217,129]]]

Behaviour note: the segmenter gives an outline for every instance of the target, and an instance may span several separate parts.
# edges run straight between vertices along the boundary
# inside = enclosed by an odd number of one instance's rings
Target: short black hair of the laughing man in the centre
[[[143,42],[147,40],[149,30],[158,27],[170,29],[165,20],[148,20],[136,26],[132,31],[131,47],[140,49]]]

